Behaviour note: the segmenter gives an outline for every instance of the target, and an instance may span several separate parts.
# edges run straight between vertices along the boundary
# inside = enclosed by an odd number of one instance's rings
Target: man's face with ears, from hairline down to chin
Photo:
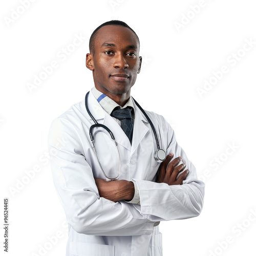
[[[96,89],[115,98],[130,97],[140,72],[139,41],[129,28],[108,25],[95,38],[95,54],[87,54],[87,68],[93,71]]]

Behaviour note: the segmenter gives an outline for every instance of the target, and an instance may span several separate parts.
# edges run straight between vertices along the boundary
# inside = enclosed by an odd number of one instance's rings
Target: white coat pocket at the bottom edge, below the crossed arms
[[[70,242],[70,256],[115,256],[114,245]]]

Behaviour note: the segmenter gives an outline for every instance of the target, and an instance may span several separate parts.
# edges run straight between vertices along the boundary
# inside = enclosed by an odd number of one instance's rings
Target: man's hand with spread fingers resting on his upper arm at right
[[[157,179],[158,183],[166,183],[168,185],[182,185],[183,180],[187,177],[189,170],[185,170],[185,172],[183,172],[177,179],[178,174],[185,169],[186,165],[183,163],[176,166],[181,161],[181,157],[177,157],[172,162],[170,162],[173,156],[174,154],[169,154],[160,164],[159,175]]]

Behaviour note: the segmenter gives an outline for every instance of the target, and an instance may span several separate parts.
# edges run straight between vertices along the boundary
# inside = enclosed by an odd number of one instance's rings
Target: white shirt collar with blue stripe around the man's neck
[[[109,115],[112,113],[112,111],[117,107],[120,106],[118,105],[113,99],[110,97],[106,96],[102,92],[98,91],[95,87],[92,88],[92,93],[94,97],[97,99],[99,104],[101,105],[102,109],[108,113]],[[132,101],[132,98],[130,97],[129,100],[126,102],[124,106],[120,106],[121,109],[126,108],[126,106],[132,106],[133,111],[132,111],[132,116],[135,116],[135,111],[134,111],[134,104]]]

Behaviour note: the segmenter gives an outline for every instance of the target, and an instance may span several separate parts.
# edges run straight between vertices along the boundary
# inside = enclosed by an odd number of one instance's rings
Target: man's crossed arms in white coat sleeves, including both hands
[[[77,134],[66,118],[54,120],[49,133],[54,185],[67,220],[76,232],[100,236],[151,234],[157,221],[200,214],[204,184],[197,179],[194,165],[172,131],[167,132],[167,141],[171,143],[166,151],[174,155],[169,154],[161,163],[157,182],[133,179],[139,188],[140,205],[123,201],[134,196],[132,182],[94,179],[92,168],[84,158],[84,148],[89,148],[86,134],[80,133],[82,138]],[[59,139],[65,143],[60,144]],[[85,141],[84,145],[81,141]],[[181,157],[172,160],[174,156],[182,156],[189,173],[182,172],[184,165],[178,165]]]

